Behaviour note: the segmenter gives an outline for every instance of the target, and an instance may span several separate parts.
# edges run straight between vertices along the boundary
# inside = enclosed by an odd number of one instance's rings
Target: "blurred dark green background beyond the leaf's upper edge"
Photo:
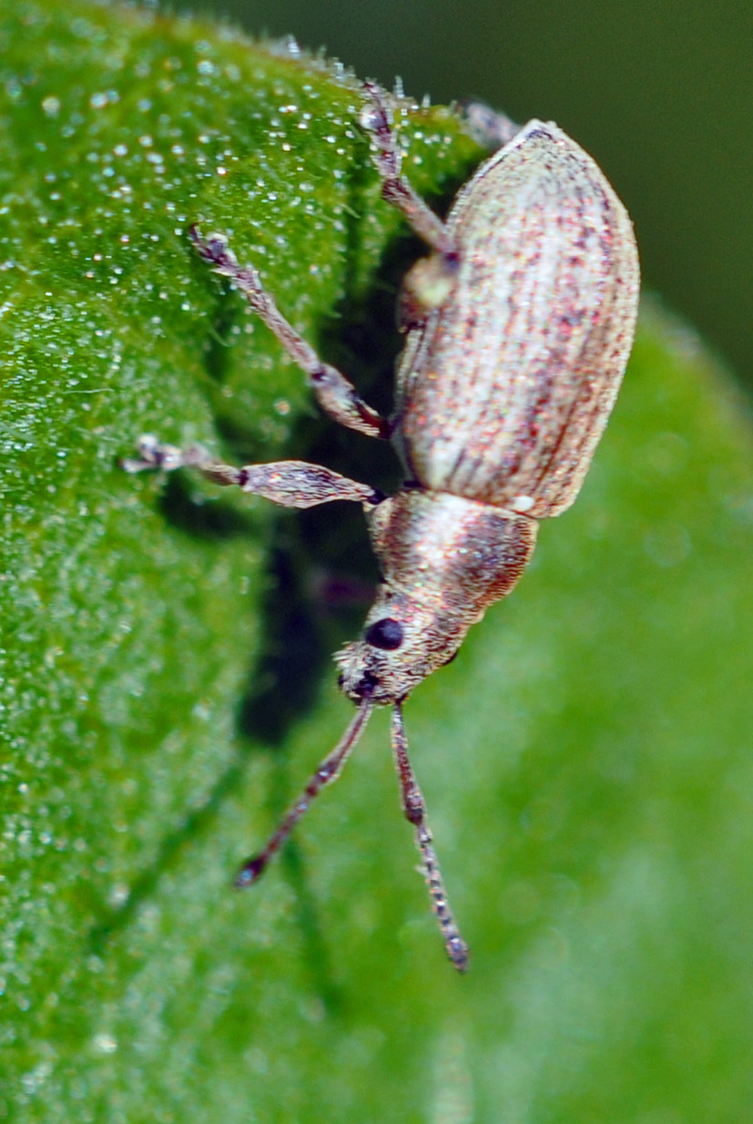
[[[638,232],[647,284],[753,386],[750,0],[190,0],[246,30],[325,46],[361,76],[515,120],[556,120]]]

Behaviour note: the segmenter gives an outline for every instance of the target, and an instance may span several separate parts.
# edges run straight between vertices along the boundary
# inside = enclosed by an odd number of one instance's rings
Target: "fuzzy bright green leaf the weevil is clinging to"
[[[746,1121],[753,472],[725,377],[645,309],[578,505],[407,706],[468,977],[385,715],[234,894],[350,719],[328,653],[374,563],[359,511],[118,459],[151,430],[394,480],[187,230],[228,233],[376,402],[414,246],[317,61],[19,2],[0,90],[0,1118]],[[403,126],[446,199],[480,152],[448,111]]]

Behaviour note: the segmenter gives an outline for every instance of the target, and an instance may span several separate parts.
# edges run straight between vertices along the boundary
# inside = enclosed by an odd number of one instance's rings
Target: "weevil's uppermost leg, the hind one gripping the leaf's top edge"
[[[446,226],[400,174],[402,155],[392,132],[383,90],[375,82],[364,82],[363,88],[369,101],[361,114],[361,126],[369,133],[376,149],[373,161],[382,178],[382,197],[402,211],[416,234],[432,250],[443,257],[452,257],[455,247]]]

